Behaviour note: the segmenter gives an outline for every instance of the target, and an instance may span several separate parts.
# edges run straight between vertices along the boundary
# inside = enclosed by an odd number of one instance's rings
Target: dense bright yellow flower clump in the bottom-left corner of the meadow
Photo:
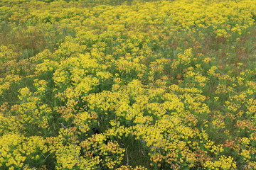
[[[29,162],[38,162],[41,166],[46,161],[48,147],[43,137],[25,137],[17,133],[9,133],[0,138],[0,152],[2,168],[21,169],[29,166]]]

